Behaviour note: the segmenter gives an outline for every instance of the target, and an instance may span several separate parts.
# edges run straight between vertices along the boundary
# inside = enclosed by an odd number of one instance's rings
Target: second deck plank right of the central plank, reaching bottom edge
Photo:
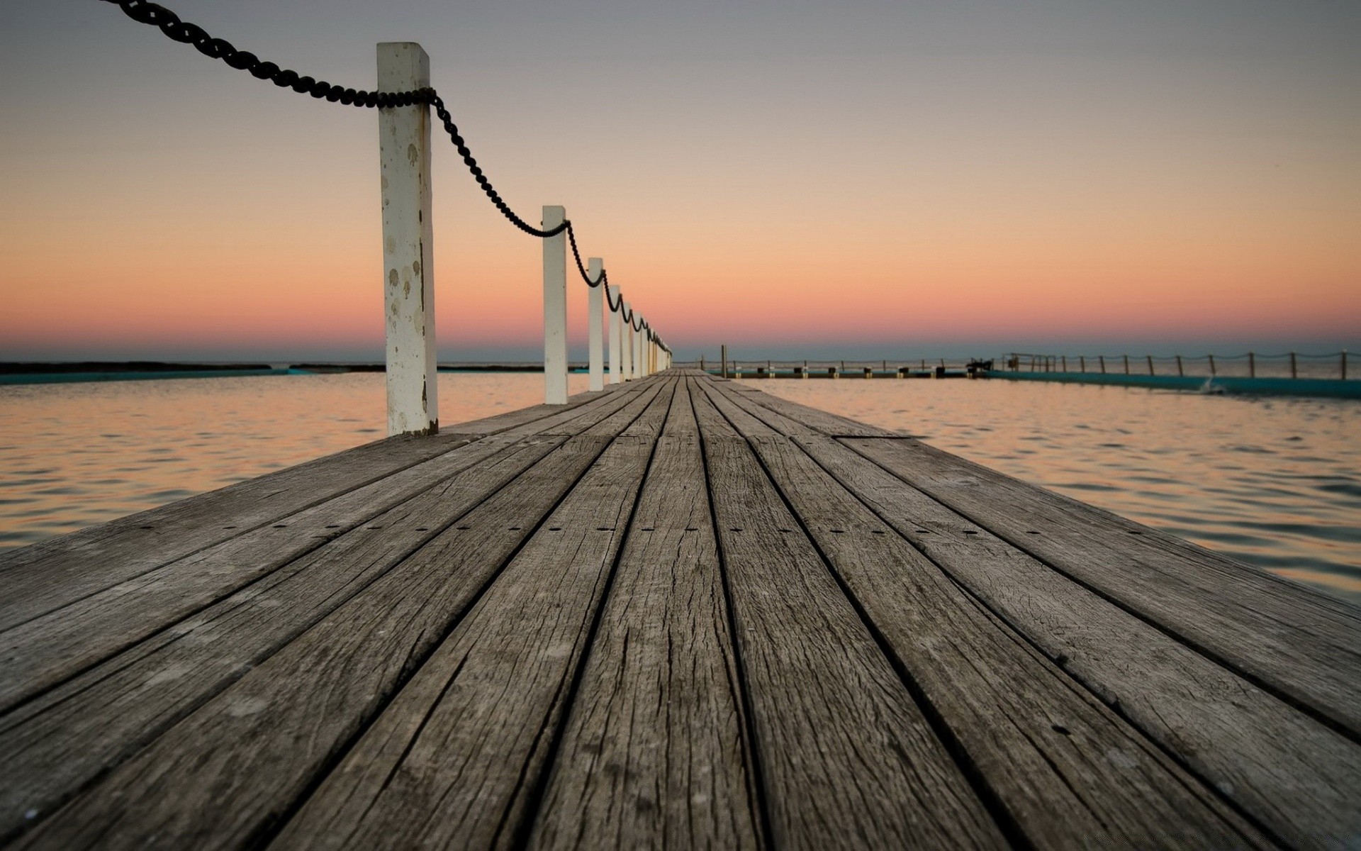
[[[784,434],[710,388],[968,764],[1034,847],[1264,847]]]

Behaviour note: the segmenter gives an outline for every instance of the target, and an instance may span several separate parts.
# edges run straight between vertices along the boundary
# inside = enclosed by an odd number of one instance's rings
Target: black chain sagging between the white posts
[[[148,3],[147,0],[102,0],[103,3],[113,3],[122,12],[139,23],[146,23],[154,27],[159,27],[162,33],[174,41],[181,44],[193,45],[200,53],[210,59],[220,59],[229,67],[238,71],[246,71],[250,76],[261,80],[269,80],[280,89],[293,89],[298,94],[309,94],[317,99],[325,99],[331,103],[342,103],[344,106],[359,106],[367,109],[389,109],[393,106],[415,106],[418,103],[427,103],[434,108],[436,114],[444,124],[444,129],[449,133],[449,139],[453,142],[453,147],[459,151],[459,157],[463,158],[463,163],[468,167],[472,178],[478,181],[482,191],[491,200],[491,204],[501,211],[512,225],[523,230],[529,236],[539,238],[555,237],[563,230],[568,231],[568,240],[572,244],[572,256],[577,263],[577,272],[581,274],[581,279],[585,280],[587,286],[597,287],[608,283],[608,275],[604,270],[600,270],[600,276],[591,280],[591,275],[587,272],[585,266],[581,263],[581,252],[577,248],[576,230],[572,227],[570,221],[565,221],[555,227],[540,229],[534,227],[523,218],[516,215],[510,206],[505,203],[501,193],[495,191],[491,181],[487,180],[486,174],[482,173],[482,167],[478,161],[472,158],[472,151],[468,150],[463,135],[453,123],[453,117],[449,110],[445,109],[444,101],[436,93],[434,89],[414,89],[411,91],[366,91],[362,89],[346,89],[344,86],[336,86],[325,80],[317,80],[310,76],[304,76],[297,71],[289,68],[280,68],[275,63],[261,61],[255,53],[249,50],[237,50],[235,46],[226,41],[225,38],[214,38],[208,33],[195,25],[181,20],[178,15],[166,7]],[[610,305],[610,310],[623,309],[623,294],[621,293],[618,302],[610,300],[608,286],[606,287],[606,301]],[[634,323],[634,315],[632,310],[625,316],[626,321],[633,327],[634,331],[642,331],[648,327],[646,323]],[[641,320],[641,317],[640,317]],[[656,339],[652,331],[648,331],[649,339]],[[666,349],[663,346],[663,349]],[[670,351],[670,350],[667,350]]]

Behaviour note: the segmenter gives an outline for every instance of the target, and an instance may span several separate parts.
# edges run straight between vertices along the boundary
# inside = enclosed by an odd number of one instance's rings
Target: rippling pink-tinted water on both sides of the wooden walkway
[[[572,392],[585,376],[569,377]],[[1361,602],[1361,403],[1014,381],[761,381]],[[542,400],[444,373],[441,419]],[[0,549],[382,437],[382,376],[0,387]]]

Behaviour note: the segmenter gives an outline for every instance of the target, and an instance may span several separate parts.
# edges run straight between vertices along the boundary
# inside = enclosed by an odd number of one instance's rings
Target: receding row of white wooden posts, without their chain
[[[430,57],[415,42],[378,45],[378,91],[411,91],[430,84]],[[388,434],[440,430],[436,384],[434,275],[430,225],[430,108],[425,103],[378,110],[378,159],[382,174],[384,316],[387,319]],[[544,207],[544,230],[566,221],[562,207]],[[543,240],[544,402],[568,402],[566,231]],[[604,264],[591,257],[599,280]],[[589,287],[589,373],[603,391],[604,286]],[[670,353],[636,331],[623,315],[632,308],[610,286],[610,384],[649,376],[671,365]],[[642,325],[641,317],[638,324]]]

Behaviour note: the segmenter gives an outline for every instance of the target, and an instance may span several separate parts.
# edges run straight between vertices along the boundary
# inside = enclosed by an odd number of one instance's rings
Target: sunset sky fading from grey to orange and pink
[[[421,42],[679,358],[1361,349],[1357,0],[166,5],[357,89]],[[0,63],[0,359],[381,359],[376,110],[95,0]],[[441,359],[538,357],[538,241],[434,163]]]

